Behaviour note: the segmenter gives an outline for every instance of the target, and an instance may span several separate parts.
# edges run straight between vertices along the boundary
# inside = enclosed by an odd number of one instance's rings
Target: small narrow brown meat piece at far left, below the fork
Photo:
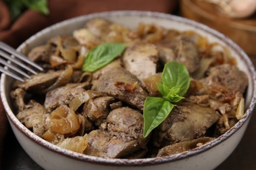
[[[18,111],[22,111],[25,107],[24,97],[26,95],[25,90],[21,88],[16,88],[11,92],[11,97],[14,99],[14,105],[18,108]]]

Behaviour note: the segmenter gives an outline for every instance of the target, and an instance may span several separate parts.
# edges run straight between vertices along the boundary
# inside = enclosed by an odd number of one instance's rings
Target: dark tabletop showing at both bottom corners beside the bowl
[[[256,66],[256,56],[251,56]],[[234,152],[217,169],[256,169],[256,110],[254,110],[242,141]],[[42,169],[24,152],[11,127],[7,133],[3,150],[3,169]]]

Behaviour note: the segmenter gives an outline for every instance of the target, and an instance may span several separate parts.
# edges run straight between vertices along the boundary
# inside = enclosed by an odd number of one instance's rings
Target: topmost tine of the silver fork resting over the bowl
[[[30,59],[26,58],[26,56],[24,56],[23,54],[16,52],[16,50],[14,48],[5,44],[4,42],[0,41],[0,48],[9,52],[10,54],[16,56],[17,58],[22,59],[22,61],[25,61],[26,63],[29,63],[30,65],[33,65],[33,67],[39,69],[40,71],[43,71],[42,67],[40,67],[36,63],[33,63],[32,61],[30,61]]]

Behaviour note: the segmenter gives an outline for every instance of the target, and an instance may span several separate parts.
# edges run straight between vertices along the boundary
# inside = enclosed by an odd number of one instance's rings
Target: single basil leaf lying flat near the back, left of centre
[[[83,71],[94,72],[104,67],[117,58],[125,48],[125,43],[104,43],[96,46],[88,52],[83,63]]]

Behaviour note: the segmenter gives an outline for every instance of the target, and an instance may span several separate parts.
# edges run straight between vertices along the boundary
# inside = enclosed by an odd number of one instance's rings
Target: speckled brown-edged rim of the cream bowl
[[[192,150],[182,152],[179,154],[173,154],[171,156],[165,156],[165,157],[159,157],[159,158],[141,158],[141,159],[110,159],[110,158],[99,158],[96,156],[87,156],[85,154],[79,154],[77,152],[73,152],[70,150],[66,150],[64,148],[60,148],[59,146],[56,146],[54,144],[51,144],[44,139],[41,139],[41,137],[38,137],[35,135],[32,131],[30,131],[27,127],[25,127],[14,115],[14,113],[11,110],[11,107],[9,106],[9,103],[7,101],[7,96],[5,94],[5,81],[7,79],[7,76],[2,74],[1,75],[1,99],[3,101],[3,106],[6,110],[7,117],[9,118],[9,121],[16,126],[16,128],[22,132],[26,137],[31,139],[34,143],[39,144],[43,148],[46,148],[48,150],[51,150],[52,152],[56,152],[58,154],[61,154],[62,156],[66,156],[68,158],[72,158],[74,160],[79,160],[87,163],[100,163],[101,165],[115,165],[115,166],[146,166],[146,165],[158,165],[162,163],[168,163],[172,161],[179,161],[183,160],[185,158],[190,158],[191,156],[195,156],[197,154],[200,154],[202,152],[205,152],[207,150],[210,150],[214,146],[217,146],[226,139],[228,139],[230,136],[232,136],[240,127],[242,127],[243,124],[245,124],[246,120],[248,120],[253,112],[253,109],[255,108],[256,103],[256,73],[255,68],[253,66],[253,63],[245,54],[244,50],[240,48],[235,42],[230,40],[228,37],[223,35],[222,33],[219,33],[218,31],[215,31],[214,29],[211,29],[210,27],[207,27],[206,25],[200,24],[198,22],[194,22],[192,20],[188,20],[186,18],[182,18],[181,16],[173,16],[171,14],[164,14],[160,12],[149,12],[149,11],[139,11],[139,10],[117,10],[117,11],[110,11],[110,12],[98,12],[93,14],[87,14],[83,16],[78,16],[75,18],[71,18],[68,20],[64,20],[62,22],[58,22],[57,24],[51,25],[50,27],[47,27],[35,35],[32,35],[29,39],[27,39],[25,42],[23,42],[17,50],[21,50],[26,46],[27,42],[33,41],[33,39],[36,39],[39,35],[43,33],[47,33],[51,31],[51,29],[54,29],[56,27],[61,27],[62,25],[68,24],[69,22],[75,22],[76,20],[89,20],[91,18],[104,18],[106,16],[144,16],[144,17],[152,17],[152,18],[160,18],[165,20],[170,20],[174,22],[181,22],[185,25],[190,25],[192,27],[195,27],[196,29],[201,29],[207,34],[212,35],[213,37],[217,37],[217,39],[220,39],[221,41],[225,42],[238,56],[240,59],[244,61],[244,63],[249,67],[249,75],[252,77],[252,99],[249,103],[249,107],[245,111],[245,114],[242,119],[240,119],[233,127],[231,127],[226,133],[221,135],[220,137],[217,137],[217,139],[214,139],[213,141],[203,144],[203,146],[199,146],[198,148],[194,148]]]

